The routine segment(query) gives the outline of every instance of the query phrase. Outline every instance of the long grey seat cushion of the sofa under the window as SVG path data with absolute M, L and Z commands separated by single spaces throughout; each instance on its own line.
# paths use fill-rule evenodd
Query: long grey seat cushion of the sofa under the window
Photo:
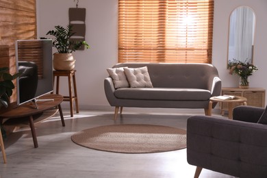
M 196 88 L 120 88 L 114 92 L 118 99 L 207 101 L 209 90 Z

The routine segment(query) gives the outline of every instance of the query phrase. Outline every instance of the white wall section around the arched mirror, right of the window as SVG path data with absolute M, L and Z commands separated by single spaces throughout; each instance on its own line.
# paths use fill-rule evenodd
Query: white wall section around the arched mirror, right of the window
M 265 58 L 267 55 L 266 0 L 215 0 L 212 63 L 218 68 L 220 78 L 223 81 L 223 86 L 238 86 L 238 76 L 229 75 L 229 71 L 226 70 L 226 65 L 229 15 L 240 5 L 247 5 L 251 7 L 256 15 L 254 64 L 259 68 L 259 71 L 253 73 L 250 77 L 250 86 L 267 88 L 267 81 L 265 80 L 267 70 L 264 68 L 267 66 L 267 59 Z

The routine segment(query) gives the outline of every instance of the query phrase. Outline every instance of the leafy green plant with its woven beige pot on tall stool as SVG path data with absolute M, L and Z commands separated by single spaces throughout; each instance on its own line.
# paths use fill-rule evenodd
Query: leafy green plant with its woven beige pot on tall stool
M 55 37 L 52 45 L 58 50 L 58 53 L 53 54 L 53 67 L 55 70 L 72 70 L 75 66 L 73 52 L 80 49 L 83 45 L 86 49 L 90 48 L 86 41 L 78 40 L 75 42 L 75 40 L 71 39 L 75 34 L 72 28 L 72 25 L 67 25 L 66 28 L 57 25 L 55 26 L 55 29 L 47 32 L 47 35 Z

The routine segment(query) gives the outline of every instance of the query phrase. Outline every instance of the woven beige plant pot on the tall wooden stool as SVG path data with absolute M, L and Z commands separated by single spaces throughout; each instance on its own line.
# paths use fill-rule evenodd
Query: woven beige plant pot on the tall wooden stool
M 71 71 L 75 67 L 72 53 L 54 53 L 53 68 L 56 71 Z

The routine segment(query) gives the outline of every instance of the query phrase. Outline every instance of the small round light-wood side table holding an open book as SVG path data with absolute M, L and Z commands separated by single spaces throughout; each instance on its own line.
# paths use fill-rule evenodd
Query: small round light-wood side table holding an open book
M 208 109 L 208 116 L 212 116 L 212 103 L 217 103 L 221 102 L 223 103 L 228 103 L 228 118 L 233 119 L 233 103 L 243 103 L 246 105 L 246 98 L 245 97 L 237 97 L 236 99 L 218 99 L 216 97 L 211 97 L 209 99 L 209 109 Z

